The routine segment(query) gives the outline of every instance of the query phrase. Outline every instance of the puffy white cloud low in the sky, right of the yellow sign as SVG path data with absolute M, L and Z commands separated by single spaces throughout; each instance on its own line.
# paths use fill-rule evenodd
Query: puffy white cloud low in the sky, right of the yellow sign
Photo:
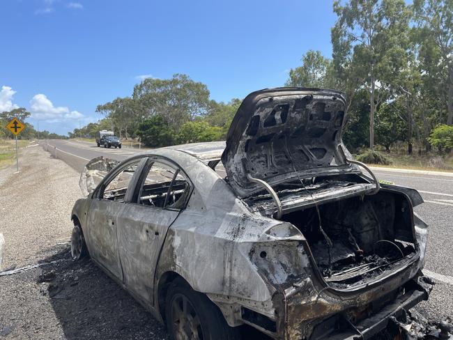
M 33 95 L 30 100 L 30 112 L 33 118 L 49 122 L 80 119 L 84 115 L 79 111 L 70 111 L 68 107 L 56 107 L 43 93 Z

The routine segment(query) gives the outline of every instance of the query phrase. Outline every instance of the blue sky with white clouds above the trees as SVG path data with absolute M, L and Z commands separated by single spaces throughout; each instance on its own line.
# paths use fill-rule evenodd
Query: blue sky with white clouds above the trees
M 66 134 L 140 76 L 174 73 L 244 98 L 282 86 L 308 49 L 331 56 L 335 20 L 328 0 L 0 0 L 0 110 Z

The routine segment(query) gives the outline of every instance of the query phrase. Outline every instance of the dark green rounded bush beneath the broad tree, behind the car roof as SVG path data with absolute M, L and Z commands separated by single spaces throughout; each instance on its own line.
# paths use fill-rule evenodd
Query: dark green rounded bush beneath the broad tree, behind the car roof
M 158 148 L 174 144 L 174 130 L 162 116 L 152 116 L 139 123 L 137 136 L 146 146 Z

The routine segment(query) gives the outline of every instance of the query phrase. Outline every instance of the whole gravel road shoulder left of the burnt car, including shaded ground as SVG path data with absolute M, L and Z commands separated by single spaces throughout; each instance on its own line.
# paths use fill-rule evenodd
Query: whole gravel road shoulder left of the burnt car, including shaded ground
M 0 170 L 3 270 L 41 266 L 0 276 L 0 339 L 167 339 L 92 261 L 70 259 L 79 173 L 40 147 L 24 150 L 20 171 Z

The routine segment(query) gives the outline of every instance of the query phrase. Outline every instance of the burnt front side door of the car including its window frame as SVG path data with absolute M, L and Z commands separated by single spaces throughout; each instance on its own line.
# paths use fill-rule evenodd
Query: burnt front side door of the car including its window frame
M 135 170 L 134 174 L 132 175 L 132 178 L 130 180 L 130 183 L 128 184 L 128 188 L 126 189 L 125 196 L 124 196 L 124 201 L 123 202 L 116 202 L 116 201 L 110 201 L 107 199 L 103 198 L 105 188 L 109 183 L 116 178 L 124 169 L 127 167 L 130 167 L 130 165 L 134 164 L 137 162 L 137 169 Z M 117 238 L 117 231 L 116 228 L 118 227 L 118 216 L 121 215 L 121 211 L 125 207 L 125 204 L 130 201 L 133 192 L 135 192 L 135 187 L 137 180 L 141 178 L 141 171 L 143 171 L 144 166 L 148 163 L 148 156 L 147 155 L 137 155 L 136 157 L 132 157 L 128 160 L 125 160 L 124 162 L 121 162 L 118 164 L 110 173 L 105 176 L 105 178 L 102 178 L 102 181 L 99 183 L 98 187 L 95 188 L 93 193 L 91 194 L 91 203 L 90 203 L 90 208 L 87 212 L 88 216 L 86 217 L 86 224 L 88 226 L 87 231 L 86 231 L 86 245 L 89 249 L 89 253 L 91 254 L 91 258 L 93 261 L 95 261 L 96 264 L 100 265 L 100 267 L 104 270 L 106 270 L 109 275 L 117 279 L 118 281 L 123 281 L 123 268 L 121 266 L 121 259 L 119 256 L 118 252 L 118 238 Z M 109 218 L 109 216 L 105 216 L 107 218 L 107 224 L 110 222 L 112 223 L 112 226 L 109 226 L 111 234 L 111 238 L 109 240 L 104 239 L 104 240 L 99 240 L 99 238 L 96 238 L 95 232 L 96 228 L 100 228 L 99 226 L 92 225 L 91 222 L 95 221 L 95 217 L 93 217 L 93 206 L 95 205 L 101 205 L 101 206 L 106 206 L 107 203 L 112 203 L 112 205 L 117 205 L 118 210 L 112 215 L 112 218 Z M 107 236 L 107 235 L 106 235 Z M 102 256 L 99 254 L 99 249 L 96 247 L 96 242 L 107 242 L 107 245 L 111 247 L 111 252 L 112 256 L 112 263 L 104 263 L 102 261 Z M 109 243 L 110 242 L 110 243 Z

